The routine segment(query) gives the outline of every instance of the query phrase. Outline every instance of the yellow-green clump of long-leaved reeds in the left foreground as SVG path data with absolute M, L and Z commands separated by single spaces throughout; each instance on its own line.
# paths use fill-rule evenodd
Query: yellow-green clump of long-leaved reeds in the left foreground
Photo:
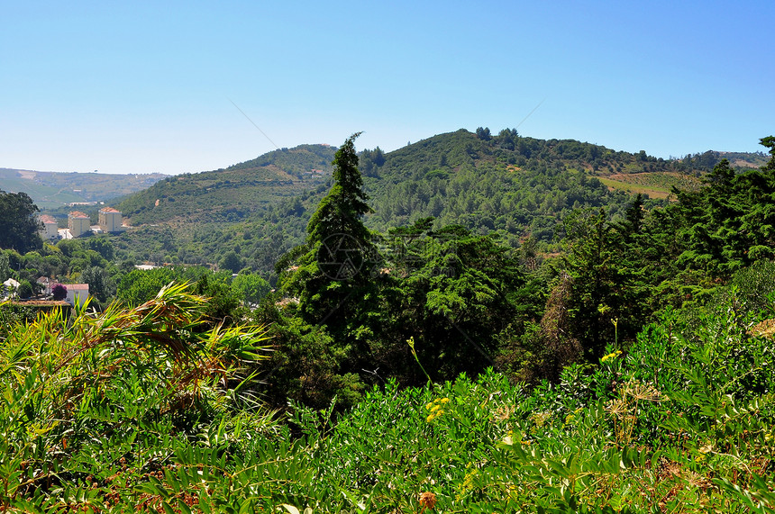
M 201 331 L 204 304 L 174 286 L 129 311 L 3 327 L 4 510 L 68 510 L 96 498 L 78 491 L 95 477 L 113 484 L 101 500 L 137 507 L 134 485 L 169 460 L 160 449 L 217 437 L 212 422 L 260 429 L 266 412 L 244 379 L 262 358 L 261 329 Z

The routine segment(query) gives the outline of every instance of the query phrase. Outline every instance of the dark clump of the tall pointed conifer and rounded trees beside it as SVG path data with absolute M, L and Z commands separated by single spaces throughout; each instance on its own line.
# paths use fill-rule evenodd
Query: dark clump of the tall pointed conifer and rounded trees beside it
M 528 298 L 534 292 L 497 235 L 433 230 L 431 218 L 369 233 L 352 139 L 337 152 L 333 176 L 307 242 L 278 263 L 278 293 L 255 313 L 271 324 L 278 349 L 270 390 L 318 406 L 337 393 L 347 405 L 383 375 L 423 383 L 407 338 L 438 379 L 518 358 L 511 347 L 539 320 L 541 295 Z

